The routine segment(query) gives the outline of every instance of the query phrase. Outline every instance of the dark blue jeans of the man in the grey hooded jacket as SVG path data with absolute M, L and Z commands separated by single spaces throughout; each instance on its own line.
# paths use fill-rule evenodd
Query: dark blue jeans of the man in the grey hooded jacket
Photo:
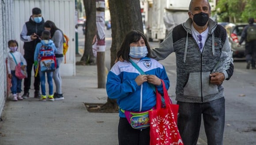
M 196 145 L 199 137 L 201 117 L 207 145 L 223 145 L 225 125 L 225 98 L 219 98 L 206 103 L 186 103 L 177 101 L 180 105 L 178 114 L 178 129 L 184 145 Z

